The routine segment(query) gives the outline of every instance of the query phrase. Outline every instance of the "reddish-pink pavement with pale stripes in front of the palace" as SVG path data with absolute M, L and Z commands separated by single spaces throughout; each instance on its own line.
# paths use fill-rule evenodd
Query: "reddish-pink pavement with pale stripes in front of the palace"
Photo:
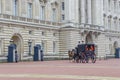
M 120 59 L 0 63 L 0 80 L 120 80 Z

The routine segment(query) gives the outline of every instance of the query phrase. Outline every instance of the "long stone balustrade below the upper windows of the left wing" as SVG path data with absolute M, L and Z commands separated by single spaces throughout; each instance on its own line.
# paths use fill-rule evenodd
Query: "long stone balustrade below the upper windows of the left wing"
M 0 14 L 0 18 L 7 19 L 10 21 L 18 21 L 18 22 L 22 21 L 26 23 L 44 24 L 44 25 L 58 26 L 58 27 L 62 25 L 62 23 L 60 22 L 45 21 L 45 20 L 32 19 L 32 18 L 26 18 L 26 17 L 20 17 L 20 16 L 13 16 L 8 14 Z

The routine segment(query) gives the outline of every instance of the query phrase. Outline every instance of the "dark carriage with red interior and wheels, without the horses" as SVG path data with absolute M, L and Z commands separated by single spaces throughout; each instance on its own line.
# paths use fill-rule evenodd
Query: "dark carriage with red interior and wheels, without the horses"
M 78 54 L 76 55 L 77 62 L 79 59 L 81 59 L 82 62 L 88 63 L 89 59 L 91 59 L 92 62 L 95 63 L 96 61 L 95 44 L 80 44 L 76 47 L 76 51 Z

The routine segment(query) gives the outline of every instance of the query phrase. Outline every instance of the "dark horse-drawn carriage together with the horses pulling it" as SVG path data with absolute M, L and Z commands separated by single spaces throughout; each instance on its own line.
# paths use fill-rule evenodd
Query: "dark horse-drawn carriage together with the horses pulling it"
M 76 62 L 88 63 L 89 60 L 91 59 L 92 63 L 95 63 L 96 62 L 95 45 L 80 44 L 71 51 L 71 57 Z

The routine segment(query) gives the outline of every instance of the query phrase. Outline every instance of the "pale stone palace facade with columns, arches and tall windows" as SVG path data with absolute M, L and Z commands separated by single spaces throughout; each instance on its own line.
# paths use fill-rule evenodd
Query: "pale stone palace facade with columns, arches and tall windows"
M 0 55 L 10 41 L 19 59 L 41 44 L 45 55 L 66 54 L 78 41 L 96 44 L 98 56 L 120 47 L 120 0 L 0 0 Z

